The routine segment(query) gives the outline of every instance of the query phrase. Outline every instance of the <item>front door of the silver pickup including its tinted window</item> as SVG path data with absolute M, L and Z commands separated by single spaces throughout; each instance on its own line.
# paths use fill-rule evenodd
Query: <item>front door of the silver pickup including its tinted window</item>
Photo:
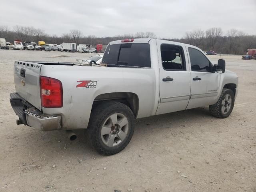
M 220 91 L 220 75 L 212 73 L 210 60 L 197 48 L 187 47 L 191 70 L 191 96 L 187 109 L 213 104 Z

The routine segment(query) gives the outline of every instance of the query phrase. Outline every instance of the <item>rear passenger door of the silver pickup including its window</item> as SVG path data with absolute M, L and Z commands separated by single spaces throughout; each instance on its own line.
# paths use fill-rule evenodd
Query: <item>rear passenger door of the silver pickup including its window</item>
M 190 71 L 183 44 L 158 41 L 160 98 L 156 114 L 185 110 L 190 98 Z

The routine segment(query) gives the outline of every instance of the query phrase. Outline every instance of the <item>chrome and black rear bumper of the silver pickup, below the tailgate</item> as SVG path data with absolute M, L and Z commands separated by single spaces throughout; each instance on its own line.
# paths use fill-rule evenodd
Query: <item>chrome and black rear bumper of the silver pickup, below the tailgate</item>
M 42 131 L 52 131 L 61 128 L 61 116 L 43 114 L 17 93 L 10 94 L 10 103 L 15 114 L 19 117 L 19 122 L 22 122 L 24 125 Z

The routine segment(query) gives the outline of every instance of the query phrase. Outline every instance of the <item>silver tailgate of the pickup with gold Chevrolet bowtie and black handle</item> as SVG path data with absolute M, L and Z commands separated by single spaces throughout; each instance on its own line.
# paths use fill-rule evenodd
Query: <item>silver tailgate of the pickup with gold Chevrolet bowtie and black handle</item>
M 14 62 L 16 92 L 34 107 L 41 110 L 40 69 L 42 64 L 26 61 Z

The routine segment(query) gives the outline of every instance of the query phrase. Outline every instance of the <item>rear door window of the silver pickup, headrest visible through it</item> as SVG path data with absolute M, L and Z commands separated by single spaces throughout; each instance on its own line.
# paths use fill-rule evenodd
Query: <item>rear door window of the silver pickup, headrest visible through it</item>
M 167 71 L 186 71 L 183 49 L 180 46 L 161 45 L 162 66 Z

